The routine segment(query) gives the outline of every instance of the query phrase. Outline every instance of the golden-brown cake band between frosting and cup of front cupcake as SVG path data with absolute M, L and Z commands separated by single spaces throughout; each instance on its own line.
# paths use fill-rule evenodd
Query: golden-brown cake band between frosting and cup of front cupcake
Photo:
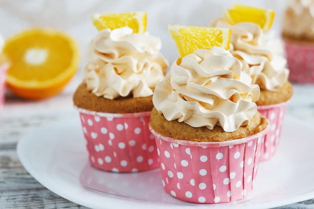
M 249 125 L 241 126 L 233 132 L 225 132 L 222 127 L 216 125 L 213 130 L 207 127 L 192 127 L 178 120 L 168 121 L 163 114 L 160 114 L 155 108 L 150 114 L 150 127 L 157 133 L 174 139 L 188 141 L 227 141 L 244 138 L 257 134 L 267 127 L 267 119 L 259 112 L 256 112 Z

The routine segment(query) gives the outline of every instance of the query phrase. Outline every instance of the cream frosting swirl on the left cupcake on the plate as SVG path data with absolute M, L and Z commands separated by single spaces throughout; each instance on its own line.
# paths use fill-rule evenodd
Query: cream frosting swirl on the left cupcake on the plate
M 83 81 L 89 91 L 107 99 L 130 93 L 150 96 L 169 67 L 159 53 L 161 45 L 159 38 L 135 34 L 128 27 L 102 30 L 87 47 Z

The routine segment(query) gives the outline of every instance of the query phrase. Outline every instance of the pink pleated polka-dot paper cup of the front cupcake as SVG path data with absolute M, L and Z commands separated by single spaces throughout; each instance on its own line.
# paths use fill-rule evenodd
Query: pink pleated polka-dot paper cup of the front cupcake
M 151 132 L 163 185 L 172 196 L 196 203 L 222 203 L 251 193 L 267 129 L 224 142 L 178 140 Z

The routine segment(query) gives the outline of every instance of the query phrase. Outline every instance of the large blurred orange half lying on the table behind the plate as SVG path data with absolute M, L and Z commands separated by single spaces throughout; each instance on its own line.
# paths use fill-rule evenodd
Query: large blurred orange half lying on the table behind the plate
M 43 99 L 61 92 L 79 64 L 74 39 L 54 29 L 23 31 L 6 40 L 3 52 L 11 62 L 8 88 L 27 99 Z

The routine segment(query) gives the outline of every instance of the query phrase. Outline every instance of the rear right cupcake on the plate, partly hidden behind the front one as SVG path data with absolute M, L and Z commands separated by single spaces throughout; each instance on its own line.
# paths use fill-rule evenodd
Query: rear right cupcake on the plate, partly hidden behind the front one
M 252 10 L 267 11 L 258 8 Z M 228 14 L 227 11 L 224 14 Z M 236 24 L 231 24 L 226 16 L 214 20 L 210 26 L 231 28 L 230 53 L 243 64 L 242 70 L 251 76 L 252 84 L 260 88 L 257 110 L 268 118 L 271 127 L 262 147 L 261 160 L 266 160 L 276 153 L 286 106 L 293 94 L 283 47 L 281 41 L 274 38 L 272 30 L 262 29 L 260 25 L 250 22 L 254 20 L 254 14 L 247 15 L 246 21 Z

